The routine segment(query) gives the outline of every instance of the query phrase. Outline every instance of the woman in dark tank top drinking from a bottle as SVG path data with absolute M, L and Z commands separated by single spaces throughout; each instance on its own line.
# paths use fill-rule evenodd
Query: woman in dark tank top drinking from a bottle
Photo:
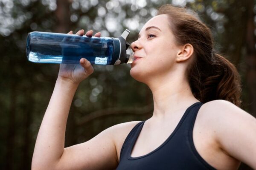
M 239 75 L 212 46 L 209 28 L 191 11 L 161 6 L 131 44 L 130 74 L 151 89 L 152 117 L 109 127 L 67 148 L 72 98 L 93 67 L 86 59 L 76 66 L 60 65 L 32 169 L 233 170 L 240 161 L 256 169 L 256 119 L 238 107 Z

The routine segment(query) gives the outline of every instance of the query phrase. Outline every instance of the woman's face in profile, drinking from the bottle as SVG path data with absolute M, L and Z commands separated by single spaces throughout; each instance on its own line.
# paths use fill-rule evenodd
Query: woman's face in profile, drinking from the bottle
M 175 69 L 178 47 L 166 14 L 151 18 L 141 29 L 138 39 L 131 43 L 134 62 L 131 76 L 140 82 L 164 76 Z

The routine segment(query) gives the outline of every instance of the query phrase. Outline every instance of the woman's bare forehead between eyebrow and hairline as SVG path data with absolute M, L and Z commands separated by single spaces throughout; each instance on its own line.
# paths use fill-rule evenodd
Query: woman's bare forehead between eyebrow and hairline
M 140 32 L 145 31 L 146 28 L 156 26 L 160 28 L 162 31 L 167 31 L 169 29 L 169 19 L 166 14 L 157 15 L 150 20 L 143 26 Z

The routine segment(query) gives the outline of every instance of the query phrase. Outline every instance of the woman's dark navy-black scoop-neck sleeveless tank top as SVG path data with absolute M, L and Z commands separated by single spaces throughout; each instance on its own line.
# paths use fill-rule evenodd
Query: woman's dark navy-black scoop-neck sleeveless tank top
M 145 121 L 138 123 L 125 139 L 116 170 L 215 170 L 199 155 L 192 139 L 195 118 L 202 105 L 196 102 L 187 108 L 172 134 L 155 150 L 131 157 Z

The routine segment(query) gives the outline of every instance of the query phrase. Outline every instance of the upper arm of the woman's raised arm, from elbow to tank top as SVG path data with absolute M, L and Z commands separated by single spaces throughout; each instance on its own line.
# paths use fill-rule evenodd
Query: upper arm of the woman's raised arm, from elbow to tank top
M 113 170 L 118 165 L 116 136 L 129 133 L 135 122 L 126 122 L 103 130 L 87 142 L 64 148 L 57 168 L 60 170 Z M 121 134 L 122 133 L 122 134 Z M 120 135 L 118 135 L 120 134 Z

